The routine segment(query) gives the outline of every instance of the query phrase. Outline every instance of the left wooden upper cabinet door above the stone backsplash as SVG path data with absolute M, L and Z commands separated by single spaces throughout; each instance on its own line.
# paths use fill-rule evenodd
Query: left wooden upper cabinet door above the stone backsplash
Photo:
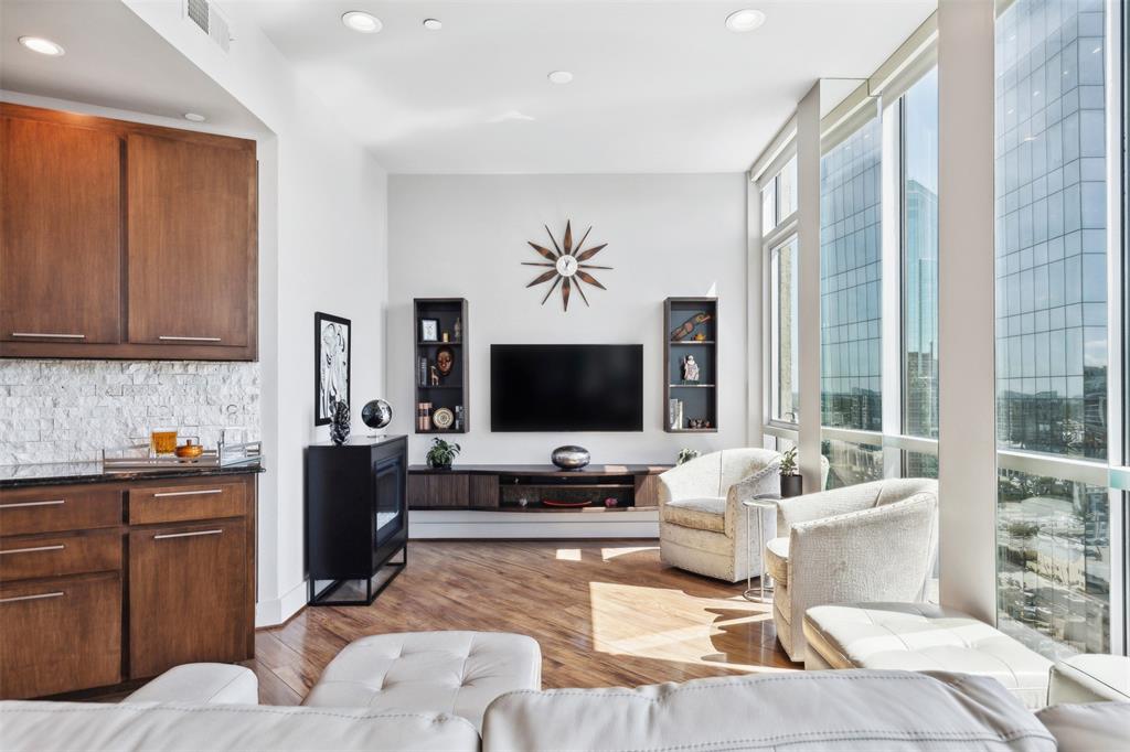
M 0 117 L 0 341 L 121 335 L 121 138 Z

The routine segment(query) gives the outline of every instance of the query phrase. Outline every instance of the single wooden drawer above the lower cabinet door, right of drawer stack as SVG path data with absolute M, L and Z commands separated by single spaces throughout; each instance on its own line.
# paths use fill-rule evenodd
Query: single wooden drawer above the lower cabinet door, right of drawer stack
M 130 489 L 130 524 L 242 517 L 247 514 L 243 482 L 177 483 Z

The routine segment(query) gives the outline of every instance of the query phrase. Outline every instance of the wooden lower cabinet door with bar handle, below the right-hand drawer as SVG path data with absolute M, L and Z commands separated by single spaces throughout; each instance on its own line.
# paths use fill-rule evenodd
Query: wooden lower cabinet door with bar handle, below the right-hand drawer
M 249 658 L 246 525 L 240 519 L 130 532 L 130 676 Z

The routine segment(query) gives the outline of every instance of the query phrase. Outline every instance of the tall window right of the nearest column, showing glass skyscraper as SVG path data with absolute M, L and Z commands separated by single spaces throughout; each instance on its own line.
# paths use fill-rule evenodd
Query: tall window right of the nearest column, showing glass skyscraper
M 1052 656 L 1121 652 L 1107 8 L 1016 0 L 996 32 L 998 618 Z

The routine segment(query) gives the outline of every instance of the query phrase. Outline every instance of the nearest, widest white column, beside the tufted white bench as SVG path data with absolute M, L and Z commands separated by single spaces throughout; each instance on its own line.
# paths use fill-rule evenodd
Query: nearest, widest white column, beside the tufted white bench
M 993 3 L 938 3 L 941 603 L 997 622 Z

